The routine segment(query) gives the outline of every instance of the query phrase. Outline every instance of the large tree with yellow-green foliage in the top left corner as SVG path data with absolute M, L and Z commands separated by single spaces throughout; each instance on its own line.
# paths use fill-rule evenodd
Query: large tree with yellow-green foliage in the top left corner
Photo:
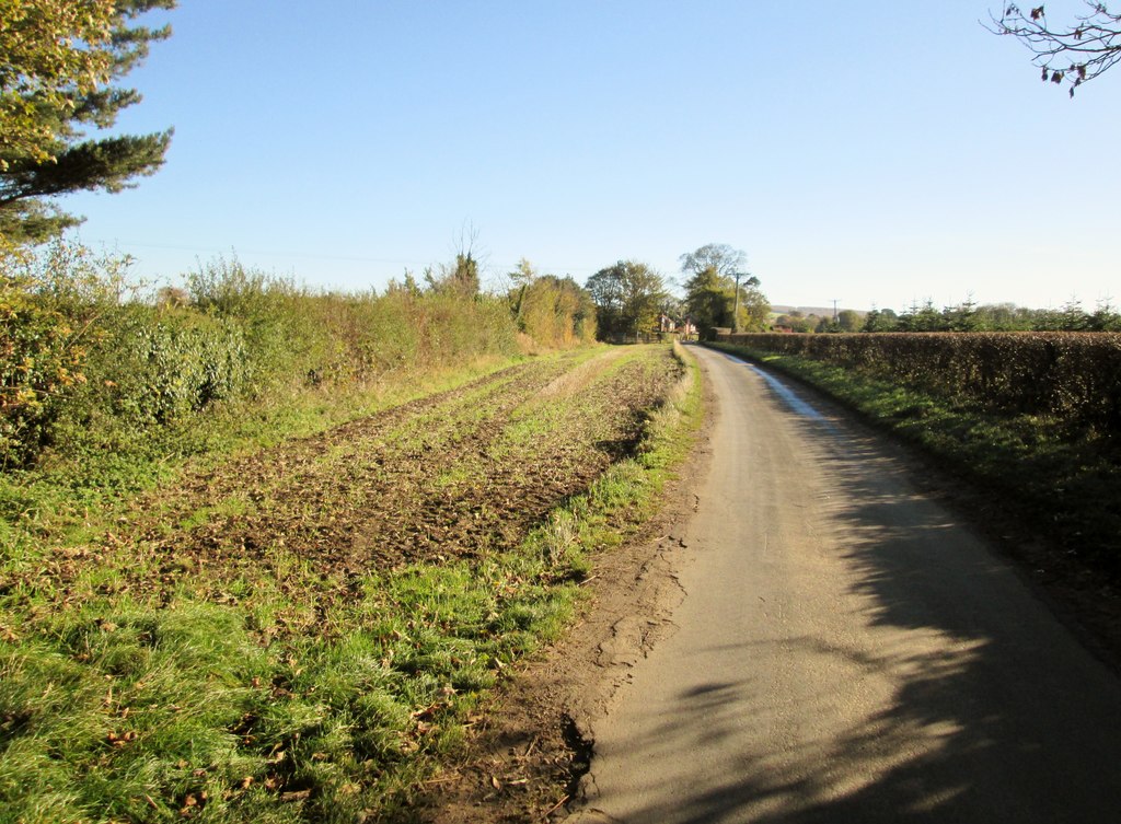
M 83 140 L 140 101 L 114 83 L 170 29 L 133 25 L 176 0 L 0 2 L 0 240 L 8 247 L 59 234 L 81 219 L 50 198 L 119 192 L 164 163 L 172 130 Z

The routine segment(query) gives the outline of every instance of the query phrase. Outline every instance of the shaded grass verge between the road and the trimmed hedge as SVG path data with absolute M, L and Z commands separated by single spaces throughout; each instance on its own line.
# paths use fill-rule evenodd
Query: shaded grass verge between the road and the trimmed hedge
M 1036 415 L 979 411 L 915 388 L 795 355 L 715 345 L 793 376 L 917 445 L 1103 582 L 1121 582 L 1121 445 Z

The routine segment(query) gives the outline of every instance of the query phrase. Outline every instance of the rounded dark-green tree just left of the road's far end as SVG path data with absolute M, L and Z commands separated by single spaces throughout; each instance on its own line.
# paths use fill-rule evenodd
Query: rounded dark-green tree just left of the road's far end
M 620 260 L 587 279 L 599 335 L 611 339 L 652 332 L 666 297 L 661 275 L 634 260 Z

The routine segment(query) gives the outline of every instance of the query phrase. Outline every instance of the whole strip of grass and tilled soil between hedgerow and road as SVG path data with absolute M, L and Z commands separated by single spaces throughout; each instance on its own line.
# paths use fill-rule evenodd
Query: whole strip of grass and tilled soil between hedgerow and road
M 8 479 L 0 822 L 406 817 L 652 506 L 693 373 L 581 350 L 140 494 Z

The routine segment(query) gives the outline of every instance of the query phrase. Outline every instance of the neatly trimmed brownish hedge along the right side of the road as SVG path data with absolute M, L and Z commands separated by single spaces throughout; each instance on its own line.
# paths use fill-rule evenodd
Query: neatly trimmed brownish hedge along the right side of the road
M 1115 332 L 733 334 L 722 342 L 794 354 L 1001 415 L 1048 415 L 1121 432 Z

